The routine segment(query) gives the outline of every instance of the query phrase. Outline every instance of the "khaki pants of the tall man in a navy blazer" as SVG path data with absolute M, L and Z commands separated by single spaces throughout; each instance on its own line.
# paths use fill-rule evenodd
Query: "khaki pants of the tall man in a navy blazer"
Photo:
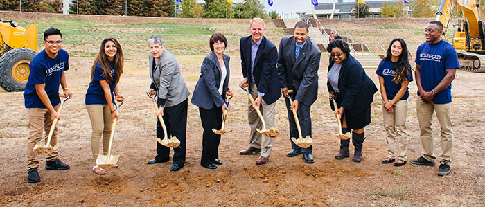
M 249 93 L 251 96 L 256 99 L 258 97 L 258 91 L 256 88 L 256 84 L 251 82 L 251 87 Z M 261 106 L 259 110 L 261 111 L 261 115 L 265 119 L 266 129 L 270 129 L 270 127 L 274 127 L 274 109 L 276 108 L 276 102 L 272 103 L 271 105 L 267 105 L 264 100 L 261 100 Z M 252 107 L 251 101 L 248 100 L 247 105 L 247 119 L 249 121 L 249 127 L 251 127 L 251 135 L 249 146 L 260 148 L 261 149 L 261 156 L 265 158 L 269 158 L 271 154 L 271 150 L 273 147 L 274 138 L 269 136 L 262 136 L 259 132 L 256 132 L 256 129 L 263 129 L 263 123 L 259 118 L 256 109 Z

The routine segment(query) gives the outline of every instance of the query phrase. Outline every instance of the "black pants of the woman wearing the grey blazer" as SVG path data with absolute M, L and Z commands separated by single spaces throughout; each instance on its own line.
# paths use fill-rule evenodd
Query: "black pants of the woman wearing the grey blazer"
M 185 163 L 185 138 L 187 132 L 187 101 L 179 103 L 172 107 L 164 108 L 164 123 L 167 129 L 167 136 L 171 138 L 175 136 L 179 139 L 180 145 L 173 149 L 173 163 L 177 163 L 180 167 Z M 157 118 L 157 137 L 164 139 L 164 129 Z M 170 147 L 165 147 L 157 142 L 157 160 L 166 160 L 170 154 Z

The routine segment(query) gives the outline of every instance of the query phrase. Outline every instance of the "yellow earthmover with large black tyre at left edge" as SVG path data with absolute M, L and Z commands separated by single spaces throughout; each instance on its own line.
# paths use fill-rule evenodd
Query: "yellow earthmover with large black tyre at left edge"
M 24 91 L 37 55 L 37 24 L 27 28 L 12 20 L 0 19 L 0 86 L 8 91 Z

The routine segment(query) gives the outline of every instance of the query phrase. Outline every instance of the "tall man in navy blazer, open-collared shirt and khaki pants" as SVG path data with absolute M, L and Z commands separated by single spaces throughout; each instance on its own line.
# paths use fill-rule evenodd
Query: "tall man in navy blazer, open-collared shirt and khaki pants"
M 276 70 L 278 51 L 276 46 L 269 39 L 263 36 L 265 33 L 265 22 L 261 18 L 251 19 L 249 22 L 251 36 L 240 39 L 241 66 L 243 68 L 244 80 L 241 85 L 248 83 L 249 92 L 255 99 L 254 105 L 249 102 L 248 120 L 251 127 L 249 147 L 241 150 L 239 154 L 247 155 L 261 152 L 256 161 L 257 165 L 264 165 L 270 158 L 273 138 L 261 136 L 256 128 L 261 129 L 263 123 L 258 118 L 254 107 L 258 107 L 263 114 L 266 128 L 274 127 L 274 108 L 276 100 L 281 96 Z

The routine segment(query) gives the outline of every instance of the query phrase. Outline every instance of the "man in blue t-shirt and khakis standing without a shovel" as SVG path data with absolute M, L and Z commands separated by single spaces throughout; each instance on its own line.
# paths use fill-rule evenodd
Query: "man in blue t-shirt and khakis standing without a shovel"
M 459 69 L 457 51 L 451 44 L 441 40 L 443 24 L 430 21 L 425 28 L 426 42 L 416 53 L 416 112 L 421 129 L 422 156 L 412 160 L 414 165 L 434 166 L 433 130 L 431 121 L 434 111 L 441 127 L 441 165 L 438 175 L 450 174 L 453 128 L 451 123 L 451 82 Z

